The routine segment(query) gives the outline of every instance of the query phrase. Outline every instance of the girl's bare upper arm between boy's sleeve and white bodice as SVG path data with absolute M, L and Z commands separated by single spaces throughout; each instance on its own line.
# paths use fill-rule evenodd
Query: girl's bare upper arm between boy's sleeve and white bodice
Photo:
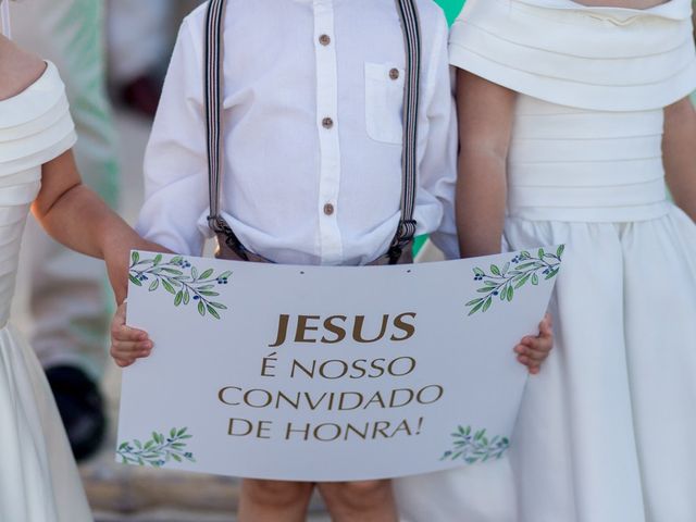
M 457 229 L 464 258 L 500 252 L 506 169 L 517 95 L 465 71 L 457 73 L 459 175 Z

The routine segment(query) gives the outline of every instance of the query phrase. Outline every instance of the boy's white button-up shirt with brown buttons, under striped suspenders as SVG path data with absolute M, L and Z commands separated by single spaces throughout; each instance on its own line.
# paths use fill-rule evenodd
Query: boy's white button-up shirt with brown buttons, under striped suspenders
M 448 29 L 419 0 L 418 234 L 457 256 L 457 124 Z M 394 0 L 229 0 L 224 27 L 222 214 L 288 264 L 363 264 L 400 216 L 403 35 Z M 206 7 L 183 23 L 145 160 L 138 231 L 200 254 L 208 228 Z

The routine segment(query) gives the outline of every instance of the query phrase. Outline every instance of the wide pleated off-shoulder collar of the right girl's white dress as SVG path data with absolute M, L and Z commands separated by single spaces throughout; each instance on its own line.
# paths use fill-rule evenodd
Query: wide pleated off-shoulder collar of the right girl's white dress
M 452 25 L 450 62 L 559 105 L 662 109 L 696 85 L 691 13 L 691 0 L 647 10 L 468 0 Z

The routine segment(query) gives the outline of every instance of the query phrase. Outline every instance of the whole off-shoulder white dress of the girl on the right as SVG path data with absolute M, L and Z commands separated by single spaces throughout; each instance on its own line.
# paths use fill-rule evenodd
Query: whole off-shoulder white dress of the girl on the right
M 520 92 L 505 243 L 567 249 L 508 458 L 398 481 L 403 519 L 696 521 L 696 225 L 661 159 L 696 88 L 691 0 L 469 0 L 450 61 Z

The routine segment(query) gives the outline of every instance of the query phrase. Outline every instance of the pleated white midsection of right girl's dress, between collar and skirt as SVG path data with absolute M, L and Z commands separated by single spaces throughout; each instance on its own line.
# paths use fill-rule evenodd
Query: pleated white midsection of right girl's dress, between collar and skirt
M 661 109 L 594 111 L 520 95 L 508 216 L 624 223 L 666 215 L 663 122 Z

